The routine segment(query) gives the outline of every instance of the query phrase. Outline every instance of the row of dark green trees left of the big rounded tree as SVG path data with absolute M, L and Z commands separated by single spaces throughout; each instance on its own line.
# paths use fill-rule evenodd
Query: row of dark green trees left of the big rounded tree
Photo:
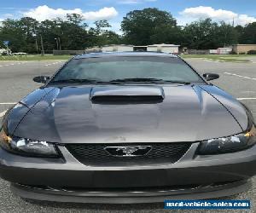
M 41 37 L 44 50 L 52 52 L 61 43 L 61 49 L 86 49 L 92 46 L 119 43 L 119 35 L 109 31 L 107 20 L 97 20 L 95 27 L 84 22 L 80 14 L 67 14 L 67 19 L 39 22 L 30 17 L 3 20 L 0 25 L 0 45 L 9 41 L 13 52 L 39 53 Z

